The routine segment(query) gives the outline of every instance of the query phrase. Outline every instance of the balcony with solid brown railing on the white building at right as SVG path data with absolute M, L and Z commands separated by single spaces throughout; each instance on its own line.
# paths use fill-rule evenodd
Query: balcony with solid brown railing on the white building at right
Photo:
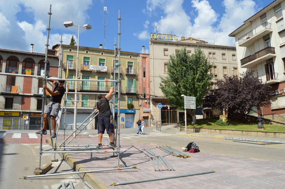
M 274 47 L 266 47 L 252 55 L 249 55 L 243 59 L 241 59 L 241 67 L 242 68 L 251 68 L 262 61 L 266 61 L 272 57 L 275 57 L 275 48 Z

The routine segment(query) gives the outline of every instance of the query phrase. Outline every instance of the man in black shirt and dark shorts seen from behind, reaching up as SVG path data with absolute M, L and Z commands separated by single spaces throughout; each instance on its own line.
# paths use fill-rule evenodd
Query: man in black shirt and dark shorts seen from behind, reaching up
M 97 109 L 99 110 L 99 115 L 98 115 L 99 143 L 98 143 L 97 148 L 103 147 L 102 137 L 103 137 L 103 133 L 105 132 L 105 129 L 110 138 L 110 143 L 108 146 L 115 148 L 115 144 L 113 142 L 114 125 L 111 124 L 111 108 L 109 105 L 109 98 L 111 97 L 113 90 L 114 90 L 114 87 L 111 87 L 110 92 L 106 96 L 104 96 L 103 94 L 98 94 L 98 98 L 100 99 L 100 101 L 97 102 Z

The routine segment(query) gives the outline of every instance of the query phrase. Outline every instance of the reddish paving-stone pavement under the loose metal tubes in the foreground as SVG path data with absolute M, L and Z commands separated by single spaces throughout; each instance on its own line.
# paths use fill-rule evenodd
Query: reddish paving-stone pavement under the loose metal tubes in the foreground
M 78 137 L 70 144 L 97 144 L 97 137 Z M 62 137 L 58 136 L 58 144 Z M 104 140 L 103 140 L 104 141 Z M 285 163 L 248 157 L 237 157 L 216 153 L 190 153 L 190 158 L 171 156 L 157 149 L 156 145 L 145 144 L 121 139 L 121 149 L 127 149 L 121 154 L 120 164 L 137 166 L 137 169 L 92 173 L 110 188 L 285 188 Z M 168 159 L 176 171 L 154 171 L 151 162 L 140 152 L 148 148 L 158 155 Z M 177 149 L 182 151 L 181 149 Z M 184 152 L 185 153 L 185 152 Z M 117 157 L 110 153 L 70 153 L 68 157 L 75 158 L 76 164 L 82 164 L 88 170 L 110 169 L 117 166 Z M 215 170 L 216 173 L 188 176 L 137 184 L 110 186 L 113 182 L 127 182 L 148 178 L 200 173 Z

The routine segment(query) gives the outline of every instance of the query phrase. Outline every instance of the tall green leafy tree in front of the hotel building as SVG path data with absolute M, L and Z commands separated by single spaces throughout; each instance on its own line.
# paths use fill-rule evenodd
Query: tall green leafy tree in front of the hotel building
M 170 105 L 184 110 L 184 97 L 196 97 L 196 107 L 202 105 L 202 99 L 211 89 L 211 69 L 213 65 L 209 62 L 205 53 L 196 48 L 190 56 L 186 48 L 176 50 L 176 54 L 170 55 L 167 63 L 168 76 L 160 77 L 160 89 L 168 98 Z M 192 115 L 196 123 L 195 109 L 186 109 Z

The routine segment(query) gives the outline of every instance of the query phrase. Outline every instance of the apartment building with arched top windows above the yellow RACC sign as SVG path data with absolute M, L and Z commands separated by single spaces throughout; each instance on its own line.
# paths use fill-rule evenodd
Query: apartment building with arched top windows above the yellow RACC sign
M 48 53 L 46 74 L 57 77 L 58 56 Z M 44 60 L 45 54 L 32 47 L 31 52 L 0 49 L 0 129 L 40 128 Z

